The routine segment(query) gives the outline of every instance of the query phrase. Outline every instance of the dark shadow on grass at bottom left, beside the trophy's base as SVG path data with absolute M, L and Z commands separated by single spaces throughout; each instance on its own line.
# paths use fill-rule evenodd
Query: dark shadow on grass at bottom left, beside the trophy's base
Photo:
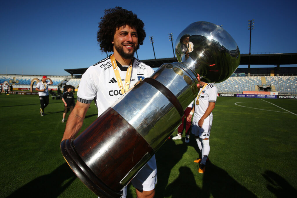
M 20 187 L 8 197 L 58 197 L 75 179 L 75 174 L 64 163 L 50 174 L 42 175 Z

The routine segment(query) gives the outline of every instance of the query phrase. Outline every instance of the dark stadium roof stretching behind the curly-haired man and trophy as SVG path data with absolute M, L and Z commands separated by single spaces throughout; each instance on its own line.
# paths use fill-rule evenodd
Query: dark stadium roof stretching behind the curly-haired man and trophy
M 277 53 L 277 54 L 241 54 L 240 65 L 295 65 L 297 64 L 297 53 Z M 164 63 L 177 62 L 176 58 L 158 58 L 142 60 L 145 64 L 156 68 Z M 88 68 L 64 69 L 71 75 L 82 75 Z

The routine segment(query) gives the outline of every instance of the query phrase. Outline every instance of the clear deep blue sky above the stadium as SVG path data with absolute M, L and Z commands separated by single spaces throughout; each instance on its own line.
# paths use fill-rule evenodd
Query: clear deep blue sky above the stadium
M 174 45 L 178 34 L 196 21 L 222 25 L 243 54 L 249 52 L 248 20 L 255 19 L 251 53 L 296 53 L 296 5 L 288 0 L 2 1 L 0 74 L 69 75 L 64 69 L 100 61 L 106 53 L 97 44 L 98 22 L 105 9 L 116 6 L 132 10 L 145 24 L 140 60 L 154 58 L 149 36 L 156 58 L 173 57 L 168 33 L 173 33 Z

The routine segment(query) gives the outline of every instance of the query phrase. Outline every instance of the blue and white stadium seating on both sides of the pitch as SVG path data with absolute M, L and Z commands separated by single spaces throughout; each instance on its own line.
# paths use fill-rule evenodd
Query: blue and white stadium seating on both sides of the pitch
M 48 76 L 53 81 L 49 88 L 67 85 L 78 88 L 80 78 L 70 76 Z M 29 88 L 31 80 L 41 79 L 42 76 L 0 75 L 0 83 L 4 81 L 14 83 L 14 88 Z M 68 80 L 68 81 L 67 81 Z M 216 83 L 219 93 L 242 93 L 243 91 L 262 91 L 259 85 L 267 85 L 268 91 L 277 91 L 279 94 L 297 94 L 297 76 L 243 76 L 243 73 L 233 74 L 222 83 Z M 35 88 L 36 85 L 33 85 Z

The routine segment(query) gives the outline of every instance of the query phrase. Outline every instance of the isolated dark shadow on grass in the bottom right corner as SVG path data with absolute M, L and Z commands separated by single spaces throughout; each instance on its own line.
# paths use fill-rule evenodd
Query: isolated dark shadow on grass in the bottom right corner
M 266 170 L 262 176 L 270 183 L 267 184 L 267 189 L 276 197 L 296 197 L 297 190 L 280 175 Z

